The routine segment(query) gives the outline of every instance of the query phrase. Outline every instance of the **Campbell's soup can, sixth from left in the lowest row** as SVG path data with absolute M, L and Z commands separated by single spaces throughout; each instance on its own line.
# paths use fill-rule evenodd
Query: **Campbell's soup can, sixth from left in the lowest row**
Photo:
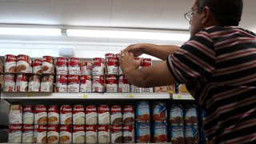
M 86 129 L 84 125 L 73 125 L 73 143 L 86 142 Z

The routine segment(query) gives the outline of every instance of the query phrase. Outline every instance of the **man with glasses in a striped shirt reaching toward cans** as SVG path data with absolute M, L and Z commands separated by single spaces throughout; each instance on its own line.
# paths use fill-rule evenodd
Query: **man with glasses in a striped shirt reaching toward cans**
M 185 83 L 206 110 L 210 142 L 256 143 L 256 36 L 238 27 L 242 0 L 196 0 L 185 16 L 189 41 L 128 46 L 119 57 L 123 73 L 141 87 Z M 138 69 L 141 54 L 164 61 Z

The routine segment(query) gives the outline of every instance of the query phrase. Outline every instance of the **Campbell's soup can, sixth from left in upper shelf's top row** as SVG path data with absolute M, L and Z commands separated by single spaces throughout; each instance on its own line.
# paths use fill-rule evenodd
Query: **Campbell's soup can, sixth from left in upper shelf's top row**
M 68 74 L 69 75 L 80 75 L 81 62 L 80 58 L 69 58 L 68 60 Z

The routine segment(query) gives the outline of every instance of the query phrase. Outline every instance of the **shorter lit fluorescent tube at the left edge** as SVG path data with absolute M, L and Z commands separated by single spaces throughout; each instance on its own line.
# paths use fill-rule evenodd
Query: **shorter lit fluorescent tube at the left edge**
M 62 35 L 61 29 L 46 28 L 10 28 L 0 27 L 0 34 L 12 35 Z

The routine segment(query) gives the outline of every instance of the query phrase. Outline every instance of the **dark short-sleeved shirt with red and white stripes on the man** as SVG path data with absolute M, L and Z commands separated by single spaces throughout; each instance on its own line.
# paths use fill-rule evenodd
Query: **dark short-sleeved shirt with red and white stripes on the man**
M 256 143 L 256 35 L 238 26 L 201 30 L 167 66 L 206 110 L 214 143 Z

